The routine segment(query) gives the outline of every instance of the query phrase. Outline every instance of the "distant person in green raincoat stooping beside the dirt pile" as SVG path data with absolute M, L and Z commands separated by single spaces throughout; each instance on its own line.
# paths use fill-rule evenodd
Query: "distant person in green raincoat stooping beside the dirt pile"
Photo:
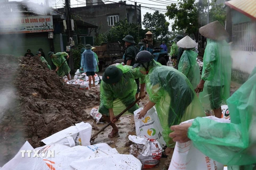
M 54 54 L 53 52 L 49 52 L 48 56 L 52 58 L 52 62 L 54 65 L 56 65 L 56 70 L 55 72 L 57 72 L 57 74 L 59 75 L 59 77 L 64 77 L 65 75 L 67 75 L 68 80 L 70 80 L 70 68 L 68 66 L 68 63 L 65 59 L 65 56 L 67 56 L 67 59 L 69 58 L 69 55 L 66 52 L 60 52 L 60 53 L 56 53 Z M 62 66 L 61 64 L 64 63 Z

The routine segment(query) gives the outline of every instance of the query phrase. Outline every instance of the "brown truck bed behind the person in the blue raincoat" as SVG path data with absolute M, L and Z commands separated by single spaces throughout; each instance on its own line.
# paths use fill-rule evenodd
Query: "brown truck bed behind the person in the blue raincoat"
M 109 66 L 115 60 L 123 57 L 124 50 L 119 41 L 102 43 L 101 46 L 94 46 L 94 53 L 98 55 L 99 71 Z

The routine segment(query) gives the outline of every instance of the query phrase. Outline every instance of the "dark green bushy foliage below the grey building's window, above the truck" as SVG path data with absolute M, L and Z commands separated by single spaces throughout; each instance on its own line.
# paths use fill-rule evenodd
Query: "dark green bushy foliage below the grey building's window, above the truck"
M 127 22 L 127 19 L 121 20 L 115 23 L 115 26 L 112 27 L 108 34 L 107 40 L 108 41 L 119 41 L 122 45 L 124 45 L 123 38 L 127 35 L 131 35 L 134 38 L 134 41 L 138 43 L 141 39 L 138 34 L 141 32 L 140 25 L 135 23 Z

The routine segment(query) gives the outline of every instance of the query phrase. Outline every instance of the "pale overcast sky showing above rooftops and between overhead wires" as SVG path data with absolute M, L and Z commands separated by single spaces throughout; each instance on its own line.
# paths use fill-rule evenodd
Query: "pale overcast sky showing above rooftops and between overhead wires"
M 9 1 L 15 1 L 15 0 L 9 0 Z M 22 1 L 22 0 L 16 0 L 16 1 Z M 93 0 L 93 2 L 94 1 L 96 0 Z M 103 2 L 106 4 L 114 3 L 118 1 L 119 0 L 103 0 Z M 142 15 L 141 21 L 143 21 L 143 15 L 145 15 L 147 12 L 153 14 L 156 10 L 158 10 L 159 12 L 164 14 L 166 12 L 166 6 L 171 5 L 171 3 L 178 3 L 177 1 L 178 0 L 138 0 L 138 1 L 126 0 L 126 4 L 134 5 L 134 2 L 137 2 L 137 5 L 141 4 L 141 15 Z M 45 4 L 45 0 L 29 0 L 29 2 Z M 71 7 L 86 6 L 85 3 L 86 3 L 86 0 L 70 0 Z M 65 0 L 49 0 L 49 5 L 52 6 L 53 8 L 61 8 L 64 6 L 64 4 L 65 4 Z M 166 17 L 166 21 L 170 22 L 169 30 L 171 31 L 171 23 L 173 21 L 169 20 L 169 18 L 167 17 Z

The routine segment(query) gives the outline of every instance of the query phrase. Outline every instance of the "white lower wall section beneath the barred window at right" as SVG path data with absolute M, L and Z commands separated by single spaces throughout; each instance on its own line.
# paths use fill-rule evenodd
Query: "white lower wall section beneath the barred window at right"
M 256 52 L 231 50 L 232 80 L 245 82 L 256 65 Z

